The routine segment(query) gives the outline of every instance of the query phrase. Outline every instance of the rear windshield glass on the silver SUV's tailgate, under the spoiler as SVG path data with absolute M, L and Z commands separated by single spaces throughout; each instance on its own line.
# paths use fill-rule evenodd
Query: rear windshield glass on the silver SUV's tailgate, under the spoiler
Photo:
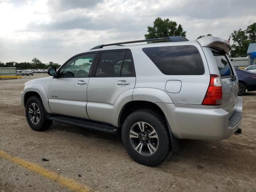
M 232 70 L 230 68 L 230 64 L 228 63 L 226 56 L 223 54 L 218 54 L 216 52 L 212 52 L 212 53 L 214 55 L 218 69 L 220 71 L 220 76 L 221 77 L 231 76 Z

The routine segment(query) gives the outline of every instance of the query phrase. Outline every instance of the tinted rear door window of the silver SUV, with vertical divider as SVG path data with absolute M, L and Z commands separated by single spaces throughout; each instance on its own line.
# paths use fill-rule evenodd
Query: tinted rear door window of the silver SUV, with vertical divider
M 129 51 L 102 52 L 96 77 L 135 76 L 132 54 Z

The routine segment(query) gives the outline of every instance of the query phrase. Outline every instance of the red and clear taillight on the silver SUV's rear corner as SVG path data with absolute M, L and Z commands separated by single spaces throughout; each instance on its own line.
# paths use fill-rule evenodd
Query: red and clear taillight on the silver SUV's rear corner
M 210 84 L 202 105 L 221 105 L 222 82 L 218 75 L 210 75 Z

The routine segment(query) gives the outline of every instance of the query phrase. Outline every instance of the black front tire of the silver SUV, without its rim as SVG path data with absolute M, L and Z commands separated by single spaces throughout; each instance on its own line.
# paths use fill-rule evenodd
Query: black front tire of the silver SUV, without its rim
M 32 103 L 35 103 L 40 110 L 40 118 L 38 124 L 34 124 L 30 120 L 29 108 Z M 38 96 L 31 96 L 26 103 L 26 118 L 28 125 L 35 131 L 43 131 L 48 129 L 52 125 L 52 120 L 46 119 L 46 112 L 42 100 Z

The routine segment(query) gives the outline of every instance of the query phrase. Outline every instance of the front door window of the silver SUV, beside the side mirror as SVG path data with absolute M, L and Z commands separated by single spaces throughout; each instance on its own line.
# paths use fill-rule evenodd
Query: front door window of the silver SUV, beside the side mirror
M 88 77 L 95 56 L 96 53 L 91 53 L 73 58 L 60 69 L 59 76 L 76 78 Z

